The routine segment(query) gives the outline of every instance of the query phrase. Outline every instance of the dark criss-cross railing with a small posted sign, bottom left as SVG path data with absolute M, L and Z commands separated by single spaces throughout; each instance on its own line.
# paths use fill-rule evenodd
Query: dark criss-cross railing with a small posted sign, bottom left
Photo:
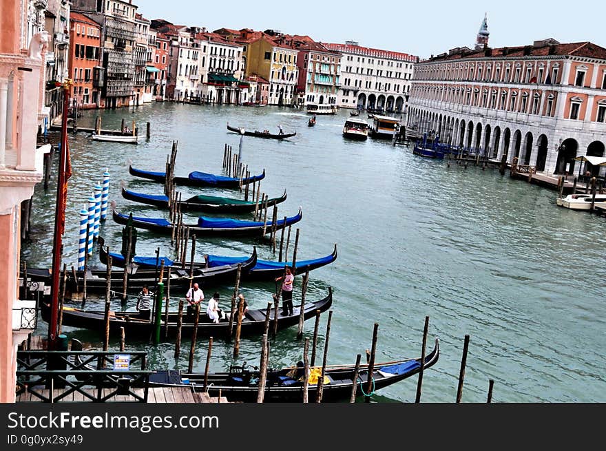
M 127 362 L 125 369 L 116 366 L 116 355 Z M 17 352 L 17 396 L 28 392 L 43 402 L 55 403 L 77 392 L 92 402 L 116 396 L 147 402 L 152 371 L 147 370 L 146 362 L 145 351 L 21 350 Z M 131 369 L 134 366 L 139 368 Z M 85 390 L 90 387 L 96 390 Z M 65 390 L 55 392 L 54 388 Z M 135 388 L 143 388 L 143 396 Z

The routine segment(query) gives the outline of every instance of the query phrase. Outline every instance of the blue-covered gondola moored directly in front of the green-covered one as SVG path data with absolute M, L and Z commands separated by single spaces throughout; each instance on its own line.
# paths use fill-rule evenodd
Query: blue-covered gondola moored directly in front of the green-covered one
M 127 225 L 129 220 L 128 215 L 123 215 L 118 211 L 114 210 L 112 213 L 114 221 L 118 224 Z M 280 219 L 275 222 L 275 230 L 282 230 L 284 227 L 288 227 L 291 224 L 299 222 L 303 217 L 302 210 L 299 209 L 299 213 L 290 218 Z M 147 229 L 157 233 L 164 233 L 165 235 L 171 235 L 173 227 L 176 224 L 172 224 L 168 220 L 163 218 L 141 218 L 133 216 L 132 224 L 138 229 Z M 209 218 L 207 216 L 198 217 L 197 224 L 183 224 L 184 227 L 189 227 L 189 233 L 195 233 L 196 236 L 256 236 L 262 237 L 263 235 L 270 233 L 272 230 L 273 221 L 244 221 L 239 219 L 231 218 Z

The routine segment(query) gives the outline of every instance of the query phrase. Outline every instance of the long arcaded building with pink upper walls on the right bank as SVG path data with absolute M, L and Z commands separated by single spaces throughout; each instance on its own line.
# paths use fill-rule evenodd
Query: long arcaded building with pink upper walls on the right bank
M 454 48 L 417 64 L 410 129 L 435 131 L 491 158 L 518 158 L 545 174 L 573 174 L 587 169 L 576 156 L 604 156 L 605 48 L 554 39 L 483 47 Z

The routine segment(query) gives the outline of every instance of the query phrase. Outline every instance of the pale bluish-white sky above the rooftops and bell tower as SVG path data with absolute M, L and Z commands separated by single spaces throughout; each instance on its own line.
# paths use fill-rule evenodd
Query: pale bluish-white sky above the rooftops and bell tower
M 280 30 L 315 41 L 404 52 L 421 59 L 453 47 L 472 48 L 484 12 L 490 47 L 530 45 L 552 37 L 561 43 L 592 41 L 606 47 L 606 2 L 576 0 L 490 2 L 406 0 L 133 0 L 146 19 L 176 25 Z

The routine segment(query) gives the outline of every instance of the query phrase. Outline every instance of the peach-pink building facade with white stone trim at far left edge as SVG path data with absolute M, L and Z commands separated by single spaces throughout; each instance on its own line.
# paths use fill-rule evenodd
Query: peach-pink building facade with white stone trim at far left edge
M 36 149 L 36 135 L 47 117 L 43 92 L 50 36 L 28 26 L 28 2 L 6 1 L 1 11 L 0 403 L 8 403 L 15 399 L 17 346 L 36 328 L 36 302 L 19 299 L 19 226 L 21 202 L 32 197 L 43 173 L 44 149 Z

